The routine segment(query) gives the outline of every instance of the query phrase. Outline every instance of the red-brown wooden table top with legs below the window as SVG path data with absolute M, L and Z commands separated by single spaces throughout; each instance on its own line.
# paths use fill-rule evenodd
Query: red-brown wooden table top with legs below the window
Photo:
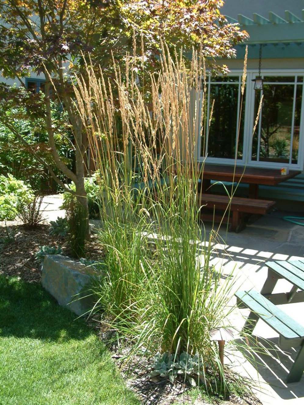
M 211 180 L 240 181 L 249 184 L 249 198 L 258 198 L 259 185 L 277 185 L 282 181 L 291 179 L 301 173 L 299 170 L 290 170 L 287 175 L 281 175 L 280 169 L 265 169 L 258 167 L 243 167 L 203 164 L 202 192 L 205 193 L 210 187 Z M 233 174 L 234 173 L 234 174 Z

